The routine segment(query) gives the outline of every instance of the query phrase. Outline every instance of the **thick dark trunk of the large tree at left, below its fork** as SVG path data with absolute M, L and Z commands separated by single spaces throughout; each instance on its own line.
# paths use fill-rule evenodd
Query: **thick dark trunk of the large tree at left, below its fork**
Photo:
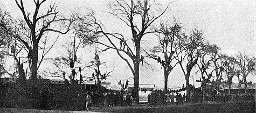
M 31 80 L 37 79 L 37 62 L 38 62 L 38 44 L 33 43 L 33 50 L 31 54 L 32 65 L 31 65 Z

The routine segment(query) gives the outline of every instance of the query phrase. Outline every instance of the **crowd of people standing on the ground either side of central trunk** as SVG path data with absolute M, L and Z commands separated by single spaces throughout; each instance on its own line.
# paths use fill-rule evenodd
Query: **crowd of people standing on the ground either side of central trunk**
M 87 92 L 85 95 L 86 101 L 83 104 L 84 110 L 89 110 L 90 107 L 108 107 L 113 108 L 117 105 L 132 105 L 133 96 L 132 93 L 120 93 L 108 91 L 105 93 L 99 92 Z M 210 95 L 205 96 L 205 101 L 216 102 L 229 102 L 229 101 L 255 101 L 253 95 Z M 191 97 L 180 93 L 171 93 L 171 91 L 155 90 L 148 95 L 148 105 L 157 106 L 160 105 L 183 105 L 184 102 L 203 102 L 202 93 L 195 93 Z

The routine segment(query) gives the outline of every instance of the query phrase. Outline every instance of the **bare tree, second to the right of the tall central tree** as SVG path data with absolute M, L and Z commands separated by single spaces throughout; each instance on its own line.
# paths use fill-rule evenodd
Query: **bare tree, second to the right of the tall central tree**
M 190 36 L 182 35 L 179 43 L 179 50 L 175 52 L 179 66 L 181 66 L 182 72 L 186 80 L 186 95 L 190 96 L 190 84 L 189 77 L 192 68 L 197 64 L 197 60 L 200 57 L 200 49 L 203 43 L 203 33 L 201 30 L 195 29 L 192 31 Z M 186 59 L 186 60 L 184 60 Z M 183 62 L 186 61 L 186 68 L 183 66 Z

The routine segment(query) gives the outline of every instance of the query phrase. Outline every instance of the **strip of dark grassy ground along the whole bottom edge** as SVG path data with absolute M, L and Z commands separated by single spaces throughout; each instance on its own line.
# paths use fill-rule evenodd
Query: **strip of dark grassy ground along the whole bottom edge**
M 185 103 L 182 106 L 171 105 L 163 107 L 150 107 L 148 105 L 133 105 L 108 108 L 94 108 L 90 111 L 61 111 L 61 110 L 35 110 L 35 109 L 16 109 L 0 108 L 0 112 L 255 112 L 255 102 L 203 102 Z

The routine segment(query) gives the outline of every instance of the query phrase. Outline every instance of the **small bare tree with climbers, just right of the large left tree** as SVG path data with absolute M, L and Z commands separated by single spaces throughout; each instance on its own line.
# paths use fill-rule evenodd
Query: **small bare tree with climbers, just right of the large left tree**
M 86 45 L 84 44 L 84 40 L 78 37 L 77 31 L 74 30 L 72 34 L 68 34 L 70 37 L 70 42 L 63 45 L 63 47 L 66 48 L 67 54 L 63 54 L 61 57 L 51 59 L 54 67 L 57 68 L 57 71 L 51 72 L 51 76 L 61 77 L 67 81 L 66 75 L 68 75 L 71 84 L 78 84 L 78 80 L 76 80 L 75 77 L 79 76 L 79 84 L 81 84 L 84 82 L 83 79 L 86 77 L 86 73 L 81 74 L 82 71 L 85 71 L 86 68 L 93 66 L 93 62 L 86 63 L 86 61 L 82 59 L 82 56 L 79 57 L 78 50 L 81 50 Z M 70 73 L 68 73 L 67 68 L 70 69 Z

